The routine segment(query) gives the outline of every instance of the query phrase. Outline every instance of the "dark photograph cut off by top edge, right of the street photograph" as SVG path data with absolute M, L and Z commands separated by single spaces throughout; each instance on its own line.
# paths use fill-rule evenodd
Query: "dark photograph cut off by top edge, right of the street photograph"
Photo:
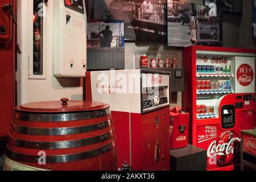
M 205 5 L 208 6 L 210 3 L 216 3 L 218 12 L 229 12 L 242 14 L 243 2 L 242 0 L 205 0 Z

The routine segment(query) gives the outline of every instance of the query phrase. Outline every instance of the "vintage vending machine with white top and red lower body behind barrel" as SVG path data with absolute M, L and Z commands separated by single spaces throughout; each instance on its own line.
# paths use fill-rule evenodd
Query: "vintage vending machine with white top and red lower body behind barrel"
M 88 101 L 112 109 L 118 165 L 170 169 L 170 72 L 143 69 L 86 72 Z

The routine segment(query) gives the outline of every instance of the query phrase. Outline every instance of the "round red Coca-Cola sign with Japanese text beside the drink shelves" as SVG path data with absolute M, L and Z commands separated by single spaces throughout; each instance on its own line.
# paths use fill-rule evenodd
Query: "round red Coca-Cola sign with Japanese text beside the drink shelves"
M 249 64 L 242 64 L 237 69 L 237 81 L 242 86 L 249 86 L 253 82 L 253 68 Z

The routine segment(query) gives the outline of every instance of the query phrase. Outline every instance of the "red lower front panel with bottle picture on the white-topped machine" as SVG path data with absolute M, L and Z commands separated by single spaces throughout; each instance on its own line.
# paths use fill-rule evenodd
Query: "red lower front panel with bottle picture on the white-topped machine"
M 169 106 L 142 116 L 142 165 L 144 171 L 170 170 Z

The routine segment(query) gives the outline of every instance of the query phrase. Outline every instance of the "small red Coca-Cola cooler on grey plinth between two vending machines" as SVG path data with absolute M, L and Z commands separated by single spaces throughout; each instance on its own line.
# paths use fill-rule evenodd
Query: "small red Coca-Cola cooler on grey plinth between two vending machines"
M 180 107 L 170 111 L 170 125 L 172 127 L 170 148 L 184 148 L 188 146 L 188 119 L 189 114 Z

